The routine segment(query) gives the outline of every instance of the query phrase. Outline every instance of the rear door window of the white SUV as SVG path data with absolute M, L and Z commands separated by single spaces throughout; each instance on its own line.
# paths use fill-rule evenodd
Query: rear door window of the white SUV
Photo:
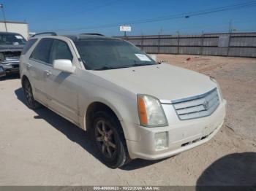
M 41 39 L 35 47 L 30 58 L 45 63 L 50 63 L 50 49 L 53 44 L 53 39 Z

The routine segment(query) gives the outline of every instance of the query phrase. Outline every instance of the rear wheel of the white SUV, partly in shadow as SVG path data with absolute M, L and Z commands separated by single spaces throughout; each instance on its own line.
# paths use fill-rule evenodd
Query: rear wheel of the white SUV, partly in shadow
M 24 79 L 22 88 L 26 100 L 26 105 L 29 107 L 29 109 L 38 109 L 41 104 L 34 100 L 34 95 L 29 79 Z

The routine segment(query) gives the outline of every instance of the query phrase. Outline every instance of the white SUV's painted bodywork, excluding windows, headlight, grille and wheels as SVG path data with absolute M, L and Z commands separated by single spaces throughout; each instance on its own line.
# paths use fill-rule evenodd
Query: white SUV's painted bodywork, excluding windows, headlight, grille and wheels
M 65 73 L 29 59 L 38 40 L 26 55 L 20 57 L 20 76 L 28 77 L 34 98 L 84 130 L 90 104 L 100 102 L 107 105 L 121 122 L 132 159 L 156 160 L 176 155 L 205 143 L 221 128 L 225 100 L 220 99 L 219 106 L 211 115 L 193 120 L 179 120 L 172 105 L 173 100 L 201 95 L 217 87 L 209 77 L 167 63 L 104 71 L 86 70 L 71 39 L 65 36 L 45 37 L 67 42 L 75 69 L 73 73 Z M 138 94 L 159 98 L 167 117 L 167 126 L 146 128 L 140 125 Z M 166 149 L 155 149 L 154 136 L 159 132 L 167 132 Z M 203 136 L 207 136 L 206 139 L 192 143 Z M 187 142 L 192 144 L 181 147 Z

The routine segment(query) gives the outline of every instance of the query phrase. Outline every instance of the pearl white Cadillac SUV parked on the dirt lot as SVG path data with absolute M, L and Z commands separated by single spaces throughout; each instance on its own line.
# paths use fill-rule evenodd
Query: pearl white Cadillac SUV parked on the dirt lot
M 214 78 L 159 64 L 122 39 L 45 35 L 20 57 L 26 104 L 89 130 L 109 167 L 177 155 L 222 127 L 226 101 Z

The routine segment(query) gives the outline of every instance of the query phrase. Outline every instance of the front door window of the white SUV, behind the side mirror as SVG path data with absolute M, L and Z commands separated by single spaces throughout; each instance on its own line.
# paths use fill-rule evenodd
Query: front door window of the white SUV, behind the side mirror
M 73 56 L 66 42 L 54 39 L 53 46 L 50 51 L 50 63 L 53 64 L 53 61 L 58 59 L 67 59 L 72 61 Z

